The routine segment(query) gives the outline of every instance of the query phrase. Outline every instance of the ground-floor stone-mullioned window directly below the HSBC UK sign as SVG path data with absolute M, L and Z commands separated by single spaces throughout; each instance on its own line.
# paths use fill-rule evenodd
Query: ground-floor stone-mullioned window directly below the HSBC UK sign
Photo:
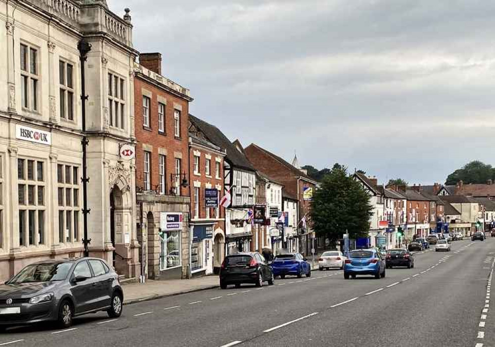
M 19 245 L 45 243 L 44 162 L 17 159 L 17 194 L 19 203 Z

